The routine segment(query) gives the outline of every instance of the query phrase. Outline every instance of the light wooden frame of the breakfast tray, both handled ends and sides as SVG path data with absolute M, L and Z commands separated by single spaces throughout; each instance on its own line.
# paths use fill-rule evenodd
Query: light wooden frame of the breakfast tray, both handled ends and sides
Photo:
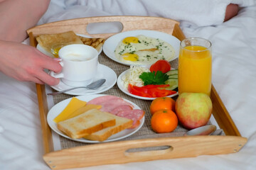
M 76 18 L 54 23 L 46 23 L 27 30 L 31 45 L 36 47 L 36 36 L 46 33 L 62 33 L 73 30 L 75 33 L 91 37 L 108 38 L 114 33 L 93 34 L 87 33 L 89 23 L 120 22 L 127 30 L 158 30 L 176 36 L 183 40 L 185 36 L 177 21 L 168 18 L 145 16 L 105 16 L 92 18 Z M 247 142 L 241 137 L 238 128 L 226 110 L 223 102 L 212 86 L 210 98 L 213 101 L 213 115 L 225 132 L 225 136 L 194 136 L 194 137 L 160 137 L 143 140 L 127 140 L 102 144 L 85 145 L 53 150 L 51 130 L 46 121 L 48 103 L 44 85 L 36 84 L 38 107 L 43 132 L 43 159 L 51 169 L 69 169 L 101 164 L 123 164 L 127 162 L 144 162 L 155 159 L 172 159 L 181 157 L 197 157 L 203 154 L 228 154 L 238 152 Z M 166 149 L 154 149 L 165 146 Z M 147 151 L 130 152 L 131 149 L 148 148 Z M 90 155 L 90 157 L 88 157 Z

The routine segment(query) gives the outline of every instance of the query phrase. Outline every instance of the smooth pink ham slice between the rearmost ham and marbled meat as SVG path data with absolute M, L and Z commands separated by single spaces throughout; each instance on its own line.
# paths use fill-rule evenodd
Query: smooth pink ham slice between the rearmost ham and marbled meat
M 109 113 L 114 108 L 117 108 L 117 107 L 123 106 L 123 105 L 127 105 L 127 106 L 134 108 L 134 106 L 131 103 L 124 101 L 124 99 L 122 99 L 122 98 L 114 98 L 109 101 L 102 102 L 102 103 L 100 103 L 100 105 L 102 106 L 102 108 L 100 108 L 100 111 L 105 111 L 105 112 L 109 112 Z

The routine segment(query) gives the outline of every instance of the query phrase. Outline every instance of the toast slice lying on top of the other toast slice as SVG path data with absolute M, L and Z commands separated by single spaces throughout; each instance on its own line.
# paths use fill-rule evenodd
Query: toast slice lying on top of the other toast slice
M 74 118 L 57 123 L 57 128 L 69 137 L 78 139 L 115 124 L 116 120 L 111 113 L 91 109 Z

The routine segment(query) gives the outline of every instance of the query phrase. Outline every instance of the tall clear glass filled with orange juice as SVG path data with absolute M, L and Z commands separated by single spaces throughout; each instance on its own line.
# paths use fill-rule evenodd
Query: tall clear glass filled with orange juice
M 211 79 L 211 42 L 204 38 L 187 38 L 181 41 L 178 57 L 178 94 L 192 92 L 210 96 Z

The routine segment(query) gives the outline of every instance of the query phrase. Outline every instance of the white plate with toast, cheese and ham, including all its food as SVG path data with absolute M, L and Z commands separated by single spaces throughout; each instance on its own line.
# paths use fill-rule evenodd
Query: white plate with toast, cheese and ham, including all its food
M 125 98 L 92 94 L 57 103 L 50 108 L 47 122 L 58 135 L 70 140 L 112 142 L 129 137 L 142 128 L 144 111 Z

